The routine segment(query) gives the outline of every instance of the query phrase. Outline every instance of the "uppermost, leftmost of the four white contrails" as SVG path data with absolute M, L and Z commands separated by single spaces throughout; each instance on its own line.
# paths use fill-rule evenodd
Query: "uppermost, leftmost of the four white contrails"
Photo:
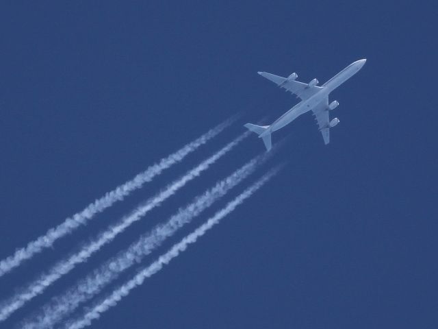
M 56 226 L 55 228 L 49 229 L 46 234 L 39 236 L 36 240 L 31 241 L 26 247 L 17 249 L 13 255 L 0 261 L 0 278 L 5 273 L 8 273 L 18 265 L 21 265 L 24 260 L 27 260 L 38 254 L 43 249 L 51 247 L 53 243 L 65 236 L 66 234 L 73 232 L 80 225 L 87 223 L 94 215 L 102 212 L 106 208 L 112 206 L 114 202 L 123 200 L 129 193 L 135 191 L 136 189 L 142 187 L 146 182 L 151 182 L 151 180 L 159 173 L 162 173 L 164 169 L 168 169 L 173 164 L 181 162 L 185 156 L 195 151 L 201 145 L 207 143 L 211 138 L 218 135 L 222 130 L 231 125 L 235 121 L 236 117 L 231 117 L 227 121 L 220 123 L 213 129 L 209 130 L 207 133 L 203 134 L 196 140 L 188 143 L 178 151 L 170 156 L 163 158 L 158 163 L 153 164 L 151 167 L 139 173 L 132 180 L 129 180 L 123 185 L 118 186 L 111 192 L 106 193 L 100 199 L 96 199 L 92 204 L 89 204 L 81 212 L 77 212 L 72 217 L 68 217 L 62 224 Z

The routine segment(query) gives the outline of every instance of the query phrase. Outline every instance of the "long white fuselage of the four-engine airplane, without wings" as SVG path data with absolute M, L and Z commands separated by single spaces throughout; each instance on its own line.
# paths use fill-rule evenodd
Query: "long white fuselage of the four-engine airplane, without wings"
M 318 106 L 326 97 L 329 96 L 329 93 L 331 93 L 333 90 L 335 90 L 335 88 L 346 82 L 346 80 L 350 79 L 350 77 L 355 75 L 357 71 L 359 71 L 365 64 L 365 61 L 366 60 L 357 60 L 356 62 L 348 65 L 345 69 L 337 73 L 337 75 L 335 75 L 325 84 L 323 84 L 318 93 L 315 93 L 315 95 L 309 97 L 308 99 L 300 101 L 300 103 L 296 104 L 296 106 L 285 112 L 285 114 L 279 117 L 279 119 L 276 119 L 276 121 L 274 121 L 274 123 L 272 123 L 272 125 L 270 125 L 270 127 L 265 132 L 263 132 L 263 134 L 260 134 L 259 137 L 263 138 L 263 136 L 266 136 L 267 134 L 271 134 L 272 132 L 283 128 L 285 125 L 294 121 L 301 114 L 309 112 L 310 110 Z

